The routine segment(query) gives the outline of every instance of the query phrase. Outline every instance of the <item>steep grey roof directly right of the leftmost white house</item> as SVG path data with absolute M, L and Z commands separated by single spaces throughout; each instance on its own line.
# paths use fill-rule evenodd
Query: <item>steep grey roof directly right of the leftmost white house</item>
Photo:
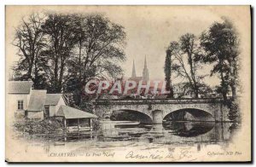
M 43 111 L 46 99 L 46 90 L 33 89 L 27 111 Z

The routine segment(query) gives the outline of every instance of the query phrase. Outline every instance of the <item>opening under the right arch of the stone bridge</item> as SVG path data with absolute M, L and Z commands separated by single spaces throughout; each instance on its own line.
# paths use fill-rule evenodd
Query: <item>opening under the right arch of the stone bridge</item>
M 214 115 L 199 108 L 181 108 L 172 112 L 167 112 L 163 120 L 194 120 L 194 121 L 214 121 Z

